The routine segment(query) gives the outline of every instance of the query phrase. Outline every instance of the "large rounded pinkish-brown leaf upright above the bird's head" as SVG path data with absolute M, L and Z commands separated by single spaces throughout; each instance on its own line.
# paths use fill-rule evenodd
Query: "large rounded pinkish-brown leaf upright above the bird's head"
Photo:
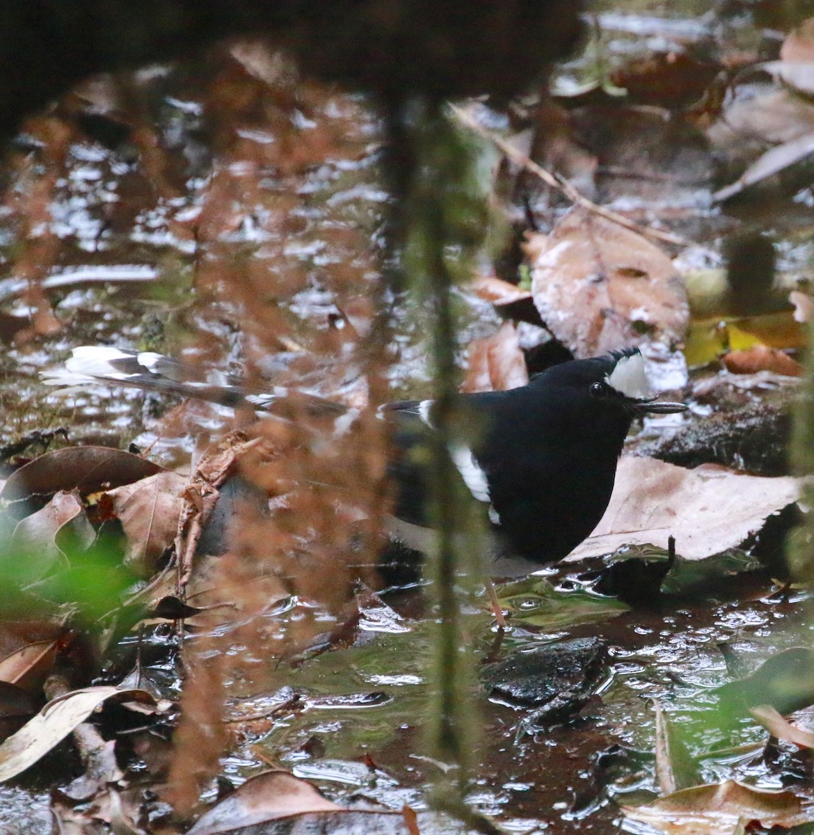
M 664 252 L 623 226 L 572 210 L 549 235 L 528 238 L 540 316 L 575 357 L 685 335 L 683 281 Z

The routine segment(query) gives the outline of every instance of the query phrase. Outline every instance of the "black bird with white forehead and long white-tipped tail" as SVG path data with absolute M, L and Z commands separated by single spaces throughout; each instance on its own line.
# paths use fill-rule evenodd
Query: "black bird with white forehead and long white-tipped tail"
M 125 385 L 230 406 L 248 402 L 260 410 L 273 410 L 286 397 L 286 390 L 279 388 L 252 395 L 236 385 L 189 382 L 184 368 L 167 357 L 112 347 L 75 348 L 63 369 L 43 377 L 63 387 Z M 533 570 L 567 556 L 608 507 L 616 463 L 634 418 L 687 408 L 655 400 L 637 348 L 564 362 L 508 391 L 461 397 L 480 437 L 472 448 L 463 443 L 450 448 L 450 457 L 470 493 L 488 511 L 493 554 L 519 558 L 498 574 Z M 353 412 L 313 400 L 316 407 L 336 414 L 336 431 L 351 425 Z M 407 549 L 426 550 L 429 491 L 421 458 L 412 453 L 432 432 L 433 403 L 397 402 L 380 413 L 396 422 L 390 466 L 397 485 L 392 535 Z

